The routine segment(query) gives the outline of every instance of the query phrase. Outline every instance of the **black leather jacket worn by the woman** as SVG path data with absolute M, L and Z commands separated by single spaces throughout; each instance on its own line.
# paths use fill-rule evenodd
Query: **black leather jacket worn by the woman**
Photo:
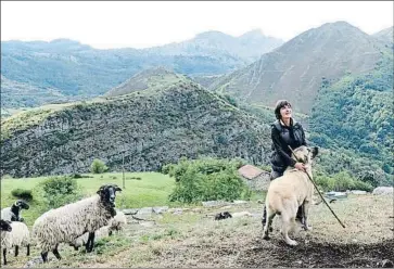
M 293 150 L 306 145 L 304 129 L 301 124 L 293 124 L 291 119 L 290 127 L 283 126 L 279 120 L 271 124 L 271 156 L 270 162 L 272 169 L 283 172 L 288 166 L 294 166 L 295 161 L 291 158 L 291 151 L 288 145 Z

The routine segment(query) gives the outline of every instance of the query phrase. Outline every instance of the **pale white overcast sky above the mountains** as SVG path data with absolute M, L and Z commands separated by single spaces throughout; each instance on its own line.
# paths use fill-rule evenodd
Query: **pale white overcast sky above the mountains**
M 373 34 L 393 26 L 393 1 L 1 1 L 1 41 L 68 38 L 140 49 L 253 29 L 288 41 L 336 21 Z

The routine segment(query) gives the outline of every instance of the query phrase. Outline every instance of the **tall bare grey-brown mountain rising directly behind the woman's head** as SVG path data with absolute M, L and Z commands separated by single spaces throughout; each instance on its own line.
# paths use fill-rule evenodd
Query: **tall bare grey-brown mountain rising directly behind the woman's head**
M 209 89 L 269 106 L 288 99 L 295 111 L 308 114 L 322 78 L 371 71 L 381 54 L 382 46 L 373 37 L 346 22 L 329 23 L 223 76 Z

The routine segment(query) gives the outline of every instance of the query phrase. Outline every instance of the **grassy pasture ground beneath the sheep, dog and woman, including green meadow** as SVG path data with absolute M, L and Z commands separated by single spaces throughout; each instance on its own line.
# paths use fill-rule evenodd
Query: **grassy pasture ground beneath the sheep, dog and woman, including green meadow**
M 93 178 L 78 179 L 87 195 L 106 182 L 122 187 L 122 174 L 89 175 Z M 128 178 L 128 179 L 127 179 Z M 140 178 L 140 180 L 136 179 Z M 4 179 L 1 181 L 1 206 L 9 206 L 15 198 L 11 190 L 34 188 L 42 178 Z M 323 203 L 312 206 L 313 231 L 297 230 L 293 238 L 300 245 L 287 246 L 279 234 L 278 218 L 274 221 L 271 240 L 262 239 L 262 204 L 256 194 L 247 203 L 216 207 L 180 205 L 167 202 L 174 188 L 174 179 L 154 172 L 126 174 L 126 189 L 116 197 L 117 207 L 140 208 L 168 205 L 164 214 L 148 214 L 140 221 L 128 218 L 127 229 L 114 236 L 98 240 L 90 254 L 74 251 L 63 244 L 58 261 L 50 253 L 47 265 L 38 260 L 39 252 L 31 247 L 31 255 L 9 255 L 8 267 L 382 267 L 385 259 L 394 261 L 393 197 L 349 195 L 330 204 L 345 223 L 343 229 Z M 27 225 L 33 225 L 40 213 L 35 202 L 22 214 Z M 181 208 L 175 210 L 173 208 Z M 173 210 L 171 210 L 173 209 Z M 228 210 L 249 212 L 251 217 L 214 220 L 214 215 Z M 150 221 L 154 220 L 154 221 Z

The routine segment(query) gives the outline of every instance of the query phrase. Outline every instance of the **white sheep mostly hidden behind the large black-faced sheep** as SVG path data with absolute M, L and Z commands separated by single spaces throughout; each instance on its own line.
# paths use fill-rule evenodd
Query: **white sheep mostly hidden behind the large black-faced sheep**
M 113 231 L 122 231 L 126 225 L 127 225 L 126 215 L 123 212 L 116 210 L 115 217 L 110 219 L 109 225 L 101 227 L 99 230 L 94 232 L 94 239 L 111 236 Z M 87 245 L 88 239 L 89 239 L 89 233 L 87 232 L 84 235 L 74 240 L 74 242 L 72 242 L 69 245 L 74 246 L 75 251 L 78 251 L 79 246 L 82 245 L 85 245 L 86 247 L 88 246 Z

